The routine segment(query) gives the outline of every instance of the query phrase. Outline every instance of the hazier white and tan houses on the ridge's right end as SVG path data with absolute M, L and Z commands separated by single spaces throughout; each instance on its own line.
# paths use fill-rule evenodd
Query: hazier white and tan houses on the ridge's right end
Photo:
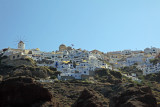
M 160 63 L 153 64 L 150 60 L 155 59 L 160 53 L 159 48 L 151 47 L 142 50 L 124 50 L 107 53 L 107 61 L 115 68 L 135 65 L 143 71 L 143 75 L 150 73 L 158 73 L 160 71 Z

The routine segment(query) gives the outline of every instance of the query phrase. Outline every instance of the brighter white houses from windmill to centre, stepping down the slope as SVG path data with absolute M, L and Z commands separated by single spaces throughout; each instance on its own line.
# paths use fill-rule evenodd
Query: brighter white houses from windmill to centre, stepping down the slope
M 29 57 L 38 66 L 51 66 L 61 71 L 59 79 L 85 79 L 92 77 L 97 68 L 108 68 L 102 55 L 90 51 L 73 49 L 61 44 L 56 52 L 42 52 L 37 49 L 25 49 L 23 41 L 18 43 L 18 49 L 3 49 L 3 56 L 11 60 Z

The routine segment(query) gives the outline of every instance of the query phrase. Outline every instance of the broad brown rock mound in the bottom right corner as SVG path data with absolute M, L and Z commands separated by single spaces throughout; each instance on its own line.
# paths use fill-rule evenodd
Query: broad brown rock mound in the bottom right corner
M 150 87 L 125 86 L 126 89 L 110 100 L 110 107 L 157 107 Z

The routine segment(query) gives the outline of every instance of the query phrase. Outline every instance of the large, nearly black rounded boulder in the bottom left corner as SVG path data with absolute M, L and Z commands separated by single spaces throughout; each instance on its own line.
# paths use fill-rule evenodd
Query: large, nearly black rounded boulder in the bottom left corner
M 52 101 L 50 92 L 32 78 L 11 78 L 2 81 L 0 87 L 0 107 L 39 107 Z

